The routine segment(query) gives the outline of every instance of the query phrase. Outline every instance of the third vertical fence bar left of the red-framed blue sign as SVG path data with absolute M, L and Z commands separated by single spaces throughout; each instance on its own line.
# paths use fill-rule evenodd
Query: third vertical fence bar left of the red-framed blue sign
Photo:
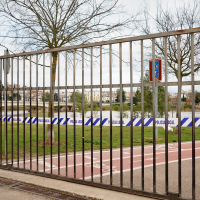
M 123 130 L 122 130 L 122 43 L 119 43 L 120 79 L 120 187 L 123 187 Z

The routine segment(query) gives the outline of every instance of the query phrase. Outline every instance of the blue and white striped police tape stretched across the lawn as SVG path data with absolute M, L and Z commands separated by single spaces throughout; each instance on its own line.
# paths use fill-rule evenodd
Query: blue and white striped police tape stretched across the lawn
M 3 117 L 3 121 L 6 120 L 6 117 Z M 45 120 L 46 124 L 50 124 L 50 118 L 38 118 L 38 124 L 43 124 Z M 12 117 L 7 117 L 7 122 L 11 122 L 12 121 Z M 17 117 L 13 117 L 13 121 L 17 122 Z M 24 118 L 23 117 L 19 117 L 19 122 L 24 123 Z M 25 117 L 25 123 L 32 123 L 32 124 L 36 124 L 37 123 L 37 118 L 36 117 L 32 117 L 30 119 L 30 117 Z M 60 125 L 65 125 L 66 123 L 68 125 L 73 125 L 74 124 L 74 120 L 73 118 L 67 118 L 67 120 L 65 118 L 60 118 L 59 122 L 58 122 L 58 118 L 52 118 L 52 124 L 60 124 Z M 76 118 L 75 121 L 76 125 L 82 125 L 82 118 Z M 91 125 L 91 118 L 85 118 L 84 119 L 84 123 L 85 126 L 89 126 Z M 110 126 L 110 119 L 108 118 L 103 118 L 102 119 L 102 126 Z M 131 121 L 130 119 L 123 119 L 122 120 L 122 125 L 123 126 L 131 126 Z M 133 126 L 141 126 L 142 125 L 142 120 L 141 118 L 133 118 Z M 165 125 L 165 119 L 164 118 L 156 118 L 156 126 L 161 126 L 163 127 Z M 93 118 L 93 126 L 100 126 L 100 118 Z M 120 120 L 119 119 L 113 119 L 112 120 L 112 126 L 120 126 Z M 144 118 L 144 126 L 153 126 L 153 118 Z M 168 119 L 168 126 L 171 127 L 176 127 L 178 126 L 178 119 L 177 118 L 169 118 Z M 182 118 L 181 119 L 181 126 L 182 127 L 192 127 L 192 118 Z M 200 127 L 200 118 L 195 118 L 195 127 Z

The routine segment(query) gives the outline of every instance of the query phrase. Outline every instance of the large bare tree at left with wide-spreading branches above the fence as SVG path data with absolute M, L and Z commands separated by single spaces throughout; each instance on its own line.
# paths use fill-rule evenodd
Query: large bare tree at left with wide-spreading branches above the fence
M 1 0 L 0 13 L 9 25 L 4 36 L 12 39 L 18 47 L 22 46 L 23 51 L 102 40 L 113 33 L 116 36 L 116 31 L 131 21 L 130 17 L 119 20 L 118 16 L 122 14 L 122 10 L 118 6 L 118 0 L 97 2 L 96 0 Z M 58 53 L 53 52 L 53 88 L 57 58 Z M 52 100 L 53 95 L 54 91 L 52 91 Z M 48 117 L 51 115 L 50 110 L 51 108 L 49 108 Z M 54 117 L 54 112 L 52 117 Z M 50 143 L 50 139 L 49 126 L 47 143 Z

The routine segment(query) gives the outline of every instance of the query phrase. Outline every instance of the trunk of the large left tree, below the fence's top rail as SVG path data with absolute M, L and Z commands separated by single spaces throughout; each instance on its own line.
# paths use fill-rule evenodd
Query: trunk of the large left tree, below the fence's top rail
M 48 118 L 54 118 L 54 88 L 56 82 L 56 64 L 58 60 L 58 52 L 52 53 L 53 62 L 52 62 L 52 93 L 49 97 L 49 109 L 48 109 Z M 59 95 L 59 94 L 58 94 Z M 52 100 L 52 101 L 51 101 Z M 51 112 L 51 105 L 52 105 L 52 112 Z M 47 126 L 47 145 L 51 144 L 51 124 Z M 54 144 L 54 125 L 52 124 L 52 144 Z

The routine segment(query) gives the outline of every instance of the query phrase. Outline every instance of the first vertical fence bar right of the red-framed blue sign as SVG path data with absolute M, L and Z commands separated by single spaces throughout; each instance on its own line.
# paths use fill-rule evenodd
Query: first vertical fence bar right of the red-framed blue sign
M 165 40 L 165 193 L 168 194 L 168 74 L 167 74 L 167 37 Z

